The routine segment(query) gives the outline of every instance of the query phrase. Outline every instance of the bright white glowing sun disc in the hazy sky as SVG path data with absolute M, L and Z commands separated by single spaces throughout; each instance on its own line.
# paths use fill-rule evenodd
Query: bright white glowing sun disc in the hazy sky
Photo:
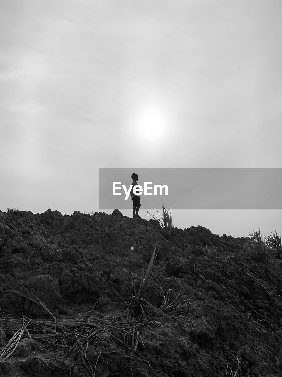
M 165 119 L 164 112 L 160 108 L 148 106 L 139 113 L 136 127 L 142 138 L 155 141 L 165 134 L 167 120 Z

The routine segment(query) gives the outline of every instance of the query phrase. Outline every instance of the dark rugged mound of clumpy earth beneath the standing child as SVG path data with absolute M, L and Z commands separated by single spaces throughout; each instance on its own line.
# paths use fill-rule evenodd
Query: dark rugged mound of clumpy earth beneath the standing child
M 118 210 L 0 211 L 0 375 L 277 375 L 282 261 L 246 241 Z M 132 287 L 156 245 L 143 313 Z

